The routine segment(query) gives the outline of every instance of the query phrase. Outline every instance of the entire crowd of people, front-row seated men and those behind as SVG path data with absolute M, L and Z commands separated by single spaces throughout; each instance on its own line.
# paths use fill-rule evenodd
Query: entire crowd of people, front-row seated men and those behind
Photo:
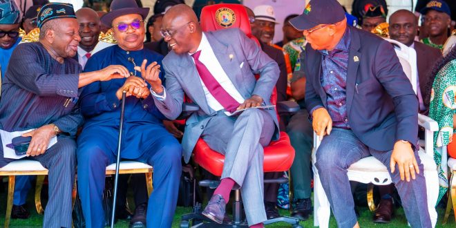
M 246 6 L 254 41 L 236 28 L 203 31 L 183 1 L 155 8 L 149 18 L 150 9 L 134 0 L 113 0 L 107 13 L 45 3 L 20 18 L 21 8 L 6 0 L 0 4 L 0 167 L 30 159 L 48 169 L 43 227 L 72 227 L 77 173 L 86 227 L 104 227 L 105 169 L 117 158 L 124 103 L 120 157 L 153 166 L 150 196 L 144 174 L 121 175 L 116 216 L 128 218 L 130 227 L 171 227 L 182 171 L 190 167 L 200 138 L 225 155 L 222 175 L 216 177 L 220 184 L 210 192 L 202 216 L 226 222 L 231 190 L 240 189 L 249 227 L 279 218 L 277 206 L 287 193 L 263 180 L 283 173 L 263 173 L 263 147 L 281 131 L 296 154 L 289 171 L 290 216 L 302 221 L 312 216 L 315 134 L 321 140 L 315 166 L 339 227 L 360 226 L 356 186 L 346 171 L 371 155 L 394 182 L 378 187 L 372 221 L 392 222 L 400 199 L 412 227 L 432 227 L 428 211 L 419 209 L 427 208 L 427 200 L 417 115 L 439 125 L 433 143 L 440 200 L 448 189 L 446 160 L 456 158 L 453 5 L 430 0 L 417 14 L 370 4 L 356 23 L 336 0 L 307 2 L 301 15 L 284 21 L 276 18 L 274 11 L 281 9 L 274 6 Z M 280 39 L 274 39 L 277 23 L 283 23 Z M 416 93 L 394 47 L 372 34 L 381 24 L 388 39 L 417 53 Z M 115 44 L 99 48 L 105 33 Z M 253 108 L 270 104 L 274 89 L 279 102 L 295 101 L 300 110 L 278 118 L 272 109 Z M 199 110 L 185 124 L 174 121 L 187 99 Z M 13 135 L 28 138 L 25 155 L 15 154 Z M 33 182 L 32 176 L 17 177 L 12 218 L 30 217 L 26 198 Z M 129 184 L 133 213 L 125 204 Z

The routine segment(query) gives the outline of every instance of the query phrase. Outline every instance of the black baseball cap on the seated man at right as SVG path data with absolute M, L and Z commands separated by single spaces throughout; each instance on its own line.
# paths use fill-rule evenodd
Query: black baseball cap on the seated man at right
M 289 20 L 297 30 L 307 30 L 319 24 L 332 24 L 342 21 L 345 11 L 336 0 L 311 0 L 302 15 Z

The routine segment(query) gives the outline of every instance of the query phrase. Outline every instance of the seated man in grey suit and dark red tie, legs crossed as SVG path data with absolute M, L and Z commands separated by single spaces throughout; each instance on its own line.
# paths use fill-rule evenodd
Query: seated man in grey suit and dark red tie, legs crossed
M 162 61 L 167 88 L 158 77 L 160 66 L 153 63 L 146 68 L 145 62 L 141 66 L 155 105 L 171 120 L 182 111 L 184 93 L 200 106 L 187 120 L 182 139 L 186 162 L 199 137 L 225 154 L 222 182 L 203 214 L 221 223 L 236 185 L 243 195 L 247 222 L 263 227 L 263 146 L 278 138 L 278 121 L 273 109 L 251 107 L 270 104 L 280 73 L 276 62 L 238 29 L 202 32 L 189 6 L 170 8 L 162 28 L 164 40 L 173 49 Z M 260 73 L 258 80 L 254 73 Z M 249 109 L 231 115 L 242 108 Z

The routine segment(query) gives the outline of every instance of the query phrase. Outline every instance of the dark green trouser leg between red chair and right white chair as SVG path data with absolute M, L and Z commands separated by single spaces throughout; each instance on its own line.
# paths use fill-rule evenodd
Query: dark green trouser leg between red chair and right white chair
M 310 181 L 312 173 L 310 172 L 310 159 L 312 155 L 312 141 L 314 140 L 312 124 L 307 117 L 306 109 L 301 109 L 294 114 L 287 125 L 287 134 L 289 141 L 292 143 L 295 154 L 294 161 L 290 171 L 292 172 L 294 199 L 310 198 L 312 189 Z

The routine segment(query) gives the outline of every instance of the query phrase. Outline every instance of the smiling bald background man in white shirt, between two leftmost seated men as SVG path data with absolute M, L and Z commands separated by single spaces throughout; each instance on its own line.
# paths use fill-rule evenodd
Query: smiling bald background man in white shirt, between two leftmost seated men
M 97 12 L 91 8 L 77 10 L 76 17 L 77 23 L 79 23 L 79 36 L 81 36 L 81 41 L 77 46 L 77 61 L 84 68 L 88 58 L 92 55 L 93 48 L 98 43 L 100 23 Z

